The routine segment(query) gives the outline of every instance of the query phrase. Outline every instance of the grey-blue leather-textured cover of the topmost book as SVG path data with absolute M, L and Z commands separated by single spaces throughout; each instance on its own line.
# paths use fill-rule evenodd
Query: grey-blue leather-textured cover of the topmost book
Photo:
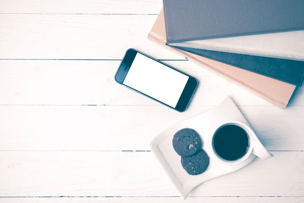
M 303 0 L 163 0 L 168 44 L 304 29 Z

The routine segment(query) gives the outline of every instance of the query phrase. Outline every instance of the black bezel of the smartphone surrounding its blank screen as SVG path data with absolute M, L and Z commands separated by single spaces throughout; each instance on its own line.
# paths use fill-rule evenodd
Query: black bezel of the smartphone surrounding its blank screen
M 175 108 L 173 108 L 173 107 L 171 107 L 171 106 L 163 103 L 162 101 L 160 101 L 158 99 L 155 99 L 155 98 L 153 98 L 153 97 L 151 97 L 151 96 L 149 96 L 149 95 L 147 95 L 147 94 L 145 94 L 143 92 L 140 92 L 140 91 L 138 91 L 138 90 L 136 90 L 136 89 L 134 89 L 132 87 L 129 87 L 129 86 L 123 84 L 123 82 L 124 82 L 124 80 L 125 80 L 128 72 L 130 70 L 130 67 L 131 67 L 131 65 L 132 65 L 132 63 L 134 61 L 134 58 L 135 58 L 135 56 L 136 56 L 137 53 L 140 53 L 140 54 L 142 54 L 142 55 L 144 55 L 144 56 L 146 56 L 146 57 L 148 57 L 150 59 L 153 59 L 153 60 L 155 60 L 155 61 L 157 61 L 159 63 L 162 63 L 163 65 L 166 65 L 167 67 L 170 67 L 170 69 L 173 69 L 173 70 L 175 70 L 175 71 L 177 71 L 177 72 L 179 72 L 181 74 L 184 74 L 184 75 L 186 75 L 186 76 L 189 77 L 189 79 L 188 79 L 188 81 L 187 81 L 187 83 L 186 83 L 186 85 L 185 85 L 185 87 L 184 87 L 184 89 L 183 89 L 183 91 L 182 91 L 182 93 L 181 93 L 181 95 L 179 97 L 179 100 L 178 100 L 177 105 L 176 105 Z M 194 78 L 193 76 L 190 76 L 190 75 L 188 75 L 186 73 L 183 73 L 183 72 L 175 69 L 174 67 L 172 67 L 172 66 L 170 66 L 170 65 L 168 65 L 168 64 L 166 64 L 166 63 L 164 63 L 162 61 L 159 61 L 159 60 L 157 60 L 157 59 L 155 59 L 155 58 L 153 58 L 151 56 L 148 56 L 148 55 L 146 55 L 146 54 L 144 54 L 144 53 L 142 53 L 142 52 L 140 52 L 140 51 L 138 51 L 136 49 L 133 49 L 133 48 L 128 49 L 126 51 L 125 56 L 123 57 L 120 65 L 119 65 L 119 68 L 118 68 L 118 70 L 117 70 L 117 72 L 115 74 L 115 81 L 117 83 L 119 83 L 119 84 L 121 84 L 121 85 L 123 85 L 123 86 L 125 86 L 125 87 L 127 87 L 127 88 L 129 88 L 129 89 L 131 89 L 131 90 L 133 90 L 133 91 L 135 91 L 137 93 L 139 93 L 139 94 L 142 94 L 142 95 L 144 95 L 144 96 L 146 96 L 146 97 L 148 97 L 150 99 L 153 99 L 153 100 L 157 101 L 158 103 L 161 103 L 161 104 L 163 104 L 163 105 L 165 105 L 165 106 L 167 106 L 167 107 L 169 107 L 171 109 L 174 109 L 175 111 L 178 111 L 178 112 L 184 112 L 187 109 L 187 107 L 190 104 L 190 101 L 191 101 L 191 99 L 192 99 L 192 97 L 193 97 L 193 95 L 194 95 L 194 93 L 195 93 L 195 91 L 196 91 L 196 89 L 198 87 L 198 84 L 199 84 L 198 80 L 196 78 Z

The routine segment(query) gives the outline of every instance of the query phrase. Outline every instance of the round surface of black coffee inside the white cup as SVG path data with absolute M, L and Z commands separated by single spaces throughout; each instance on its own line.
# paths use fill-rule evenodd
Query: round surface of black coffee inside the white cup
M 225 125 L 213 137 L 213 148 L 221 158 L 235 161 L 242 158 L 249 148 L 247 132 L 237 125 Z

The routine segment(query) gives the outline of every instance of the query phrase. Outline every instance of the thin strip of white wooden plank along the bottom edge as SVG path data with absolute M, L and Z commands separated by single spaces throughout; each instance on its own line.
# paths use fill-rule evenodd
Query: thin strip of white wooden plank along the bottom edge
M 127 202 L 127 203 L 197 203 L 197 202 L 208 202 L 208 203 L 256 203 L 256 202 L 267 202 L 267 203 L 300 203 L 304 201 L 304 197 L 187 197 L 186 200 L 180 197 L 60 197 L 60 198 L 0 198 L 1 203 L 99 203 L 99 202 Z

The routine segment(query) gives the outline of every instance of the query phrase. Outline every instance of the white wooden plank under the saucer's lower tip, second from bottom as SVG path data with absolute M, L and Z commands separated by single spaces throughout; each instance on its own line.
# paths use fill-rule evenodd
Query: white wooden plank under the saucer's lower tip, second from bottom
M 190 196 L 302 196 L 304 152 L 273 152 Z M 179 196 L 151 152 L 0 152 L 0 196 Z

